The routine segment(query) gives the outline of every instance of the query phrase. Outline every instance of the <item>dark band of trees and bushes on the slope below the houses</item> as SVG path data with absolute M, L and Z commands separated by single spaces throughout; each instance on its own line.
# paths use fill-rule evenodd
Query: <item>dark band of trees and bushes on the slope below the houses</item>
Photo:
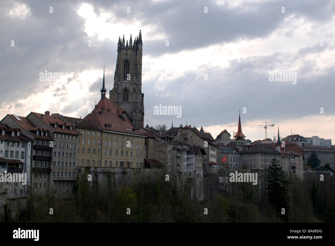
M 284 215 L 270 203 L 273 195 L 255 195 L 252 184 L 234 183 L 233 192 L 191 201 L 188 191 L 177 193 L 163 181 L 116 187 L 112 179 L 90 185 L 86 177 L 77 180 L 74 199 L 30 197 L 15 221 L 7 213 L 5 222 L 335 222 L 334 176 L 310 184 L 288 177 Z

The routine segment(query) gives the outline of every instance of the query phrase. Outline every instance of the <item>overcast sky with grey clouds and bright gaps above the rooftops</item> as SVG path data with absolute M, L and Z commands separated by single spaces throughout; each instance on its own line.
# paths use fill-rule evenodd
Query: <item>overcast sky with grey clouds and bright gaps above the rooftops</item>
M 271 139 L 279 125 L 281 137 L 292 129 L 334 144 L 332 0 L 3 1 L 0 118 L 86 116 L 100 99 L 104 64 L 107 92 L 113 88 L 119 36 L 139 30 L 144 125 L 187 121 L 215 138 L 237 131 L 228 125 L 237 125 L 241 108 L 243 125 L 275 124 Z M 67 76 L 41 82 L 45 70 Z M 296 72 L 296 84 L 270 82 L 273 71 Z M 181 117 L 154 115 L 159 104 L 181 106 Z M 242 130 L 252 141 L 265 137 L 263 127 Z

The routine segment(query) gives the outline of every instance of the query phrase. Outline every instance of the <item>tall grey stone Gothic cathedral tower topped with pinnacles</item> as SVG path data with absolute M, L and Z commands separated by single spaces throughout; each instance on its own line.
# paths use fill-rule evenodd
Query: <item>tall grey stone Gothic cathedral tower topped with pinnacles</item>
M 127 111 L 133 126 L 143 126 L 144 105 L 142 93 L 142 35 L 141 30 L 134 43 L 131 35 L 127 43 L 125 37 L 118 42 L 118 56 L 114 74 L 114 87 L 109 91 L 109 99 Z

